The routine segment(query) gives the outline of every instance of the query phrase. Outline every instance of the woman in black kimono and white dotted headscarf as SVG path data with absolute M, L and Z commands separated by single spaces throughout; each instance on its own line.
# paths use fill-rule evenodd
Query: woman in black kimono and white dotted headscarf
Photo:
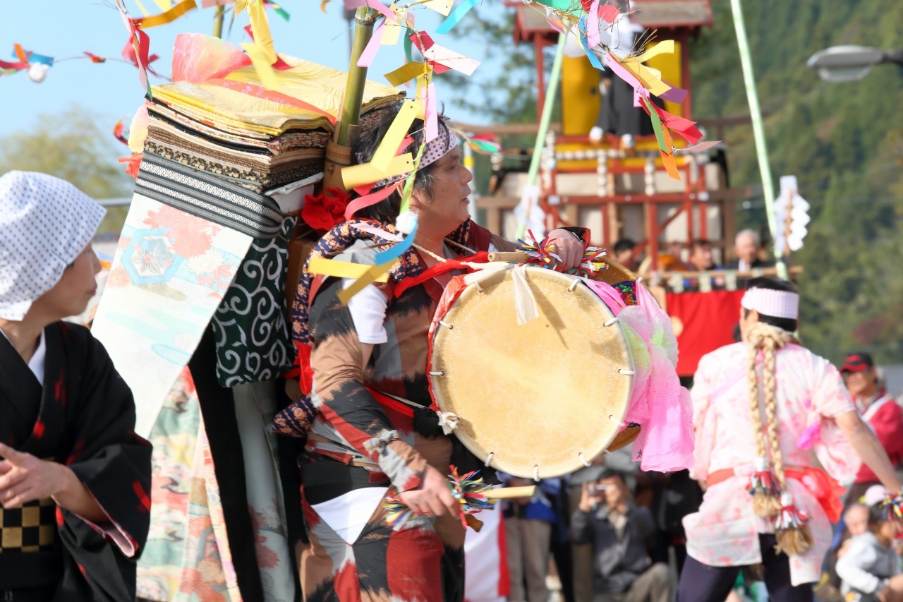
M 78 315 L 105 210 L 47 174 L 0 177 L 0 598 L 135 599 L 151 447 Z

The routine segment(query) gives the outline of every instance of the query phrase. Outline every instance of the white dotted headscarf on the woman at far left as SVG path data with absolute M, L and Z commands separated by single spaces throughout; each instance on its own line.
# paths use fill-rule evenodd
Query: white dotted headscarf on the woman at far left
M 52 175 L 0 176 L 0 318 L 22 320 L 88 246 L 106 212 Z

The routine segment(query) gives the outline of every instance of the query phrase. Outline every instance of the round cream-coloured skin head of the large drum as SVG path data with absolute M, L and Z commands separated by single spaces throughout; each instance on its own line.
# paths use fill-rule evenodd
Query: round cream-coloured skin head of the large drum
M 633 360 L 610 309 L 589 287 L 572 287 L 572 276 L 527 268 L 539 317 L 518 325 L 511 274 L 482 280 L 483 292 L 470 285 L 437 316 L 433 395 L 460 419 L 455 435 L 489 466 L 565 475 L 618 434 Z

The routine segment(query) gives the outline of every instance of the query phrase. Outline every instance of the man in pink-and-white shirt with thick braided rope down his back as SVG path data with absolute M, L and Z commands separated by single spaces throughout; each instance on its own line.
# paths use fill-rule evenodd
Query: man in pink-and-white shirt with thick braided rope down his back
M 840 373 L 796 340 L 793 286 L 753 278 L 740 305 L 742 342 L 704 355 L 694 376 L 691 475 L 706 492 L 684 518 L 677 600 L 722 602 L 760 563 L 769 600 L 811 602 L 843 510 L 838 481 L 861 461 L 889 491 L 900 484 Z

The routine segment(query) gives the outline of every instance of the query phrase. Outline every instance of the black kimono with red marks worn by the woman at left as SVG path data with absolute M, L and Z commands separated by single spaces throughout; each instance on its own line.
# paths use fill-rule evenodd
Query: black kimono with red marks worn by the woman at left
M 0 335 L 0 441 L 69 466 L 109 523 L 101 529 L 49 498 L 0 508 L 0 595 L 134 600 L 135 560 L 150 526 L 151 445 L 133 430 L 131 390 L 87 328 L 49 325 L 44 343 L 42 386 Z

